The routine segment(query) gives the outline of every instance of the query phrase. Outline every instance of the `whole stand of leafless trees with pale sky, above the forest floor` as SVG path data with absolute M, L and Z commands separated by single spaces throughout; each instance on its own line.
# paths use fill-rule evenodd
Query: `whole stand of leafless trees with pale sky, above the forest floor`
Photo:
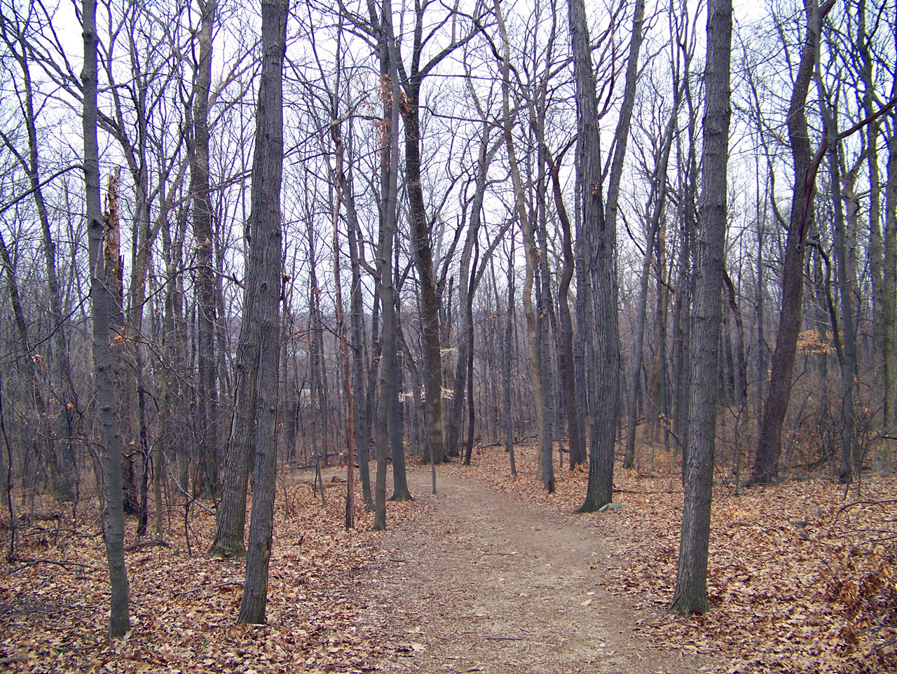
M 382 530 L 406 462 L 533 444 L 582 513 L 664 465 L 685 615 L 714 480 L 893 471 L 893 0 L 0 0 L 0 38 L 5 557 L 100 514 L 112 637 L 172 511 L 264 623 L 291 470 Z

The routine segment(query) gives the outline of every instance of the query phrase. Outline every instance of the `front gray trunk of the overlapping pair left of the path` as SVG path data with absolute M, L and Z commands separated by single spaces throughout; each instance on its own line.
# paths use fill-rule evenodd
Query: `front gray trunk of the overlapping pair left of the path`
M 256 110 L 249 207 L 247 294 L 257 293 L 253 327 L 258 333 L 257 402 L 254 421 L 255 470 L 246 550 L 246 582 L 239 623 L 265 623 L 268 563 L 274 539 L 277 471 L 277 393 L 280 368 L 283 231 L 280 192 L 283 177 L 283 57 L 287 0 L 262 0 L 262 72 Z M 246 316 L 246 318 L 250 318 Z

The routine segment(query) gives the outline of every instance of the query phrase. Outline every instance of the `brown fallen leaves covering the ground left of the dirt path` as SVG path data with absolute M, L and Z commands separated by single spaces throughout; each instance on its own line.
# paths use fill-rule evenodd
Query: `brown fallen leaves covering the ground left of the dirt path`
M 376 661 L 408 647 L 361 623 L 364 599 L 355 580 L 376 550 L 370 514 L 360 509 L 356 529 L 344 531 L 344 499 L 327 499 L 324 508 L 299 477 L 282 478 L 290 498 L 278 499 L 275 514 L 266 626 L 235 624 L 245 561 L 202 554 L 212 543 L 214 521 L 201 509 L 190 514 L 192 556 L 177 515 L 166 522 L 168 546 L 137 540 L 135 522 L 128 522 L 132 629 L 114 644 L 106 638 L 109 579 L 96 512 L 60 523 L 53 536 L 35 527 L 20 529 L 21 561 L 0 575 L 0 670 L 374 670 Z M 356 503 L 362 503 L 361 494 Z M 406 504 L 390 504 L 389 525 L 411 513 Z

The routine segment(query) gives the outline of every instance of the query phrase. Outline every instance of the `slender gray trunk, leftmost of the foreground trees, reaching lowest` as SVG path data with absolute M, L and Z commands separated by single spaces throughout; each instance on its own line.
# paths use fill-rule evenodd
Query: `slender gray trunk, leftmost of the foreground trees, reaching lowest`
M 130 628 L 128 585 L 125 567 L 125 509 L 121 482 L 121 432 L 118 404 L 112 381 L 112 351 L 109 341 L 111 287 L 103 264 L 105 226 L 100 214 L 100 148 L 97 142 L 97 5 L 85 0 L 82 10 L 84 66 L 83 85 L 84 192 L 91 260 L 91 319 L 93 322 L 93 369 L 103 443 L 106 480 L 106 559 L 109 563 L 109 638 L 118 639 Z

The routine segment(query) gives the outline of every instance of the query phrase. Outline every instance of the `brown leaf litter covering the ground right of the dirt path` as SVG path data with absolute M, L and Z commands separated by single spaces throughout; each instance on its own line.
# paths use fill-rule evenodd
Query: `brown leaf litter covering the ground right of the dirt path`
M 666 612 L 675 591 L 683 490 L 658 457 L 649 473 L 614 471 L 626 508 L 573 514 L 588 474 L 555 468 L 556 490 L 536 482 L 536 447 L 519 447 L 517 479 L 501 448 L 450 471 L 594 528 L 613 552 L 605 590 L 647 610 L 633 629 L 658 648 L 722 653 L 719 672 L 897 671 L 897 479 L 863 476 L 845 491 L 826 475 L 741 489 L 714 484 L 708 593 L 711 610 Z M 521 470 L 522 467 L 522 470 Z M 607 546 L 605 546 L 606 548 Z

